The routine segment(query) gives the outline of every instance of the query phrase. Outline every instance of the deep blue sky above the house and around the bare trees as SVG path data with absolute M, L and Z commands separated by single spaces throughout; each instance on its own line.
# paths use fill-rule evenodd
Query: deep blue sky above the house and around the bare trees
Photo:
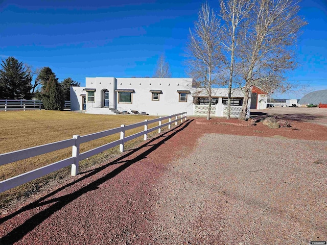
M 218 0 L 207 1 L 219 11 Z M 165 54 L 172 77 L 185 74 L 184 51 L 203 1 L 0 0 L 0 58 L 49 66 L 59 81 L 71 77 L 152 77 Z M 300 66 L 289 80 L 305 91 L 327 89 L 327 1 L 304 0 L 309 24 L 298 41 Z

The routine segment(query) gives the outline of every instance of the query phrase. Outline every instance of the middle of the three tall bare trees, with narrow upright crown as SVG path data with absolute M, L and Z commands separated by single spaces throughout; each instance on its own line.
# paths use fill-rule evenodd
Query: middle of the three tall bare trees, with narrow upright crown
M 229 69 L 227 119 L 230 119 L 231 88 L 235 75 L 236 48 L 239 43 L 239 33 L 244 30 L 246 18 L 253 4 L 253 0 L 220 0 L 220 17 L 224 21 L 224 25 L 219 34 L 222 46 L 227 51 L 225 61 Z

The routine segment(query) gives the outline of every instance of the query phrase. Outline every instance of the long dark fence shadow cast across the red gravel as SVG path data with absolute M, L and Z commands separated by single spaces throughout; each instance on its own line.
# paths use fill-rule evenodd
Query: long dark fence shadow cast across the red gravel
M 50 206 L 49 208 L 46 208 L 45 210 L 40 211 L 39 213 L 35 214 L 34 216 L 32 216 L 31 218 L 27 219 L 26 222 L 24 222 L 23 224 L 21 224 L 20 226 L 18 226 L 17 228 L 13 229 L 12 231 L 10 231 L 7 235 L 3 236 L 2 238 L 0 238 L 0 245 L 1 244 L 12 244 L 14 242 L 19 241 L 22 237 L 24 237 L 28 232 L 32 231 L 36 226 L 38 226 L 39 224 L 41 224 L 46 218 L 50 217 L 53 213 L 55 213 L 56 211 L 60 210 L 61 208 L 63 208 L 65 205 L 67 205 L 68 203 L 71 203 L 72 201 L 74 201 L 75 199 L 79 198 L 81 195 L 83 195 L 84 193 L 91 191 L 91 190 L 95 190 L 98 188 L 99 185 L 101 185 L 102 183 L 106 182 L 107 180 L 115 177 L 116 175 L 120 174 L 123 170 L 125 170 L 127 167 L 129 167 L 130 165 L 132 165 L 133 163 L 146 158 L 147 155 L 149 155 L 151 152 L 155 151 L 160 145 L 164 144 L 167 140 L 169 140 L 170 138 L 172 138 L 173 136 L 175 136 L 178 132 L 182 131 L 184 128 L 188 127 L 188 125 L 191 123 L 192 120 L 188 120 L 186 122 L 184 122 L 183 124 L 180 124 L 179 126 L 175 127 L 174 129 L 167 131 L 163 134 L 160 134 L 159 136 L 149 140 L 148 142 L 142 144 L 141 146 L 139 146 L 138 148 L 135 148 L 133 150 L 131 150 L 130 152 L 128 152 L 127 154 L 125 154 L 124 156 L 115 159 L 114 161 L 111 161 L 101 167 L 98 167 L 96 169 L 91 170 L 87 175 L 81 177 L 78 180 L 73 181 L 72 183 L 69 183 L 67 185 L 64 185 L 62 187 L 60 187 L 59 189 L 46 194 L 44 197 L 38 199 L 37 201 L 17 210 L 16 212 L 0 218 L 0 224 L 6 222 L 6 220 L 22 213 L 25 212 L 29 209 L 34 209 L 36 207 L 40 207 L 46 204 L 50 204 L 50 203 L 54 203 L 52 206 Z M 158 143 L 156 144 L 151 144 L 152 142 L 154 142 L 157 139 L 162 138 Z M 113 171 L 111 171 L 109 174 L 103 176 L 102 178 L 91 182 L 90 184 L 88 184 L 87 186 L 84 186 L 83 188 L 80 188 L 78 191 L 75 191 L 74 193 L 71 194 L 66 194 L 66 195 L 62 195 L 60 198 L 54 198 L 48 201 L 44 201 L 45 199 L 48 199 L 49 197 L 51 197 L 52 195 L 56 194 L 57 192 L 72 186 L 94 174 L 99 173 L 100 171 L 102 171 L 103 169 L 105 169 L 106 167 L 113 165 L 113 164 L 118 164 L 121 163 L 126 157 L 136 153 L 137 151 L 141 150 L 142 148 L 146 147 L 146 146 L 151 146 L 150 149 L 148 149 L 147 151 L 137 155 L 135 158 L 131 159 L 131 160 L 125 160 L 124 164 L 117 167 L 116 169 L 114 169 Z

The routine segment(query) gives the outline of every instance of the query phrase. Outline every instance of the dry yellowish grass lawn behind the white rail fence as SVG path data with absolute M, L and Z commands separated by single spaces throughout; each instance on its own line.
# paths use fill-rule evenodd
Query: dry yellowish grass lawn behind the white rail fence
M 0 154 L 69 139 L 75 134 L 86 135 L 120 127 L 122 124 L 129 125 L 153 118 L 157 117 L 145 115 L 93 115 L 70 111 L 45 110 L 0 112 Z M 149 125 L 149 128 L 157 125 L 158 123 L 156 122 L 153 125 Z M 125 134 L 127 136 L 142 130 L 144 130 L 144 127 L 139 127 L 126 131 Z M 119 134 L 115 134 L 83 143 L 80 145 L 80 153 L 119 139 L 119 137 Z M 125 144 L 125 147 L 131 147 L 131 145 L 141 140 L 141 137 L 131 140 Z M 103 154 L 81 161 L 80 167 L 83 169 L 95 163 L 100 163 L 110 157 L 111 154 L 116 154 L 117 152 L 118 146 Z M 72 148 L 66 148 L 0 166 L 0 181 L 71 156 Z M 37 191 L 51 180 L 66 178 L 69 176 L 69 169 L 70 167 L 66 167 L 45 177 L 0 193 L 0 208 L 8 205 L 8 203 L 15 199 Z

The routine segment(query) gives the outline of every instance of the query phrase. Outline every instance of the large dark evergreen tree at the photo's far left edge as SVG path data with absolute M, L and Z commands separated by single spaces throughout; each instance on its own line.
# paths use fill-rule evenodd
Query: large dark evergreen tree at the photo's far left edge
M 31 99 L 31 78 L 22 62 L 14 57 L 8 57 L 2 61 L 1 66 L 1 99 Z

